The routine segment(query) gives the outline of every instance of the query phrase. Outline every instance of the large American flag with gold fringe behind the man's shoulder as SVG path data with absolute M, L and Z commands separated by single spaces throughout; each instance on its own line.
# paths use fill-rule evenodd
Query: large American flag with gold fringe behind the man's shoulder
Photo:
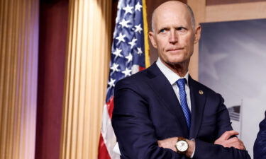
M 144 30 L 146 31 L 147 25 L 143 20 L 143 17 L 145 18 L 143 13 L 145 13 L 144 0 L 118 1 L 106 104 L 104 105 L 99 141 L 99 159 L 120 158 L 118 153 L 113 152 L 113 147 L 116 145 L 116 136 L 111 126 L 113 90 L 117 81 L 145 69 L 145 50 L 147 52 L 148 45 L 145 45 L 147 35 Z M 146 63 L 147 61 L 146 57 Z

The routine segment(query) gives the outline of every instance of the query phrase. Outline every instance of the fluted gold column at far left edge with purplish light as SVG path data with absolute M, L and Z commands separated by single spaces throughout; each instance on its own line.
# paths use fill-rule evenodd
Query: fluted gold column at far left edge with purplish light
M 0 0 L 0 158 L 33 159 L 38 0 Z

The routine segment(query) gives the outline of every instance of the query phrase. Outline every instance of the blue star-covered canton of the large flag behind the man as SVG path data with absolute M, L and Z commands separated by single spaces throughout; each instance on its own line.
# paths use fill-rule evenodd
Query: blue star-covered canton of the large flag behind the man
M 117 81 L 145 68 L 144 50 L 142 1 L 119 0 L 106 102 Z

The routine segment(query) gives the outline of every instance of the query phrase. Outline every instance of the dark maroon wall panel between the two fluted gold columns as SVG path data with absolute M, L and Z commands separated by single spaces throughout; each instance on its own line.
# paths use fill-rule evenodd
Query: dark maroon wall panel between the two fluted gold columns
M 58 159 L 60 155 L 67 20 L 67 0 L 40 1 L 35 159 Z

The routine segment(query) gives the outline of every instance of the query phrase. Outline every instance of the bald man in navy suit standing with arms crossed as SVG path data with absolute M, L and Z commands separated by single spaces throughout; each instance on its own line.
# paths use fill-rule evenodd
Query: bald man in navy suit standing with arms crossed
M 188 73 L 201 27 L 187 4 L 153 12 L 150 40 L 159 58 L 116 83 L 112 125 L 121 158 L 250 158 L 233 131 L 223 98 Z

